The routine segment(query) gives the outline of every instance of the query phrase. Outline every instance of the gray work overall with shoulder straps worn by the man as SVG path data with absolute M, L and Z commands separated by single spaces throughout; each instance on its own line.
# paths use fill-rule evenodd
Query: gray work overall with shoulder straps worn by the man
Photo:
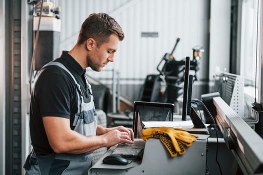
M 91 101 L 84 102 L 84 96 L 80 88 L 80 84 L 76 81 L 72 73 L 60 62 L 50 62 L 49 65 L 57 65 L 67 71 L 73 78 L 77 87 L 78 110 L 73 121 L 74 130 L 83 135 L 96 135 L 97 113 L 93 102 L 91 85 L 86 77 L 87 90 L 89 90 Z M 25 162 L 25 174 L 88 174 L 89 168 L 92 166 L 92 152 L 81 154 L 68 153 L 52 153 L 49 155 L 36 155 L 32 151 Z

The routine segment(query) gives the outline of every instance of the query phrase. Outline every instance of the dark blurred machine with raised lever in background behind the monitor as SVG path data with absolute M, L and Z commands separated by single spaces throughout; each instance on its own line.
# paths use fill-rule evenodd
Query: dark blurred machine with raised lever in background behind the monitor
M 147 75 L 141 92 L 141 101 L 174 103 L 182 95 L 185 59 L 176 60 L 173 52 L 180 38 L 176 39 L 170 53 L 165 53 L 157 65 L 159 74 Z M 196 72 L 199 70 L 201 47 L 193 48 L 193 59 L 190 60 L 190 70 L 194 71 L 193 81 L 197 80 Z

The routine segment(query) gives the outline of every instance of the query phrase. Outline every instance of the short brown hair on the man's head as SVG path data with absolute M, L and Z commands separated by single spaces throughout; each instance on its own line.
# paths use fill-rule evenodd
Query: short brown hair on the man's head
M 100 46 L 109 40 L 109 36 L 116 33 L 120 40 L 124 32 L 118 22 L 106 13 L 92 13 L 82 23 L 77 44 L 84 43 L 88 38 L 94 38 Z

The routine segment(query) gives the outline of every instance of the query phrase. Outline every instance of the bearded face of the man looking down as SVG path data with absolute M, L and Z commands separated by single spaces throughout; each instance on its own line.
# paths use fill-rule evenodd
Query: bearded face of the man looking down
M 119 47 L 120 39 L 113 33 L 108 42 L 104 42 L 99 47 L 95 44 L 94 49 L 87 55 L 87 64 L 95 71 L 101 71 L 108 62 L 114 61 L 114 54 Z

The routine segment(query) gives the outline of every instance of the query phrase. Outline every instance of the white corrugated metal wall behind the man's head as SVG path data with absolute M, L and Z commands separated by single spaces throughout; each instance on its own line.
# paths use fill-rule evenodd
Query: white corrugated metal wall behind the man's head
M 56 0 L 61 6 L 61 49 L 70 49 L 77 40 L 80 26 L 88 14 L 107 12 L 122 26 L 125 39 L 116 53 L 115 62 L 105 69 L 120 71 L 122 84 L 142 83 L 147 74 L 158 74 L 156 66 L 166 52 L 176 59 L 192 57 L 192 47 L 202 45 L 200 79 L 208 78 L 207 0 Z M 141 37 L 141 32 L 158 32 L 158 37 Z M 105 72 L 89 72 L 94 77 L 111 78 Z

